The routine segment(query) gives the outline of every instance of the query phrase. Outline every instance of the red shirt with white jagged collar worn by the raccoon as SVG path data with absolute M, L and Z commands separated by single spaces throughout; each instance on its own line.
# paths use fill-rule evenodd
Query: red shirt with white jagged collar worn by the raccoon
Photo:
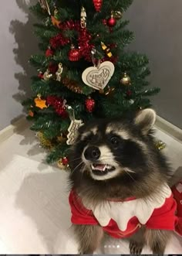
M 142 225 L 149 229 L 175 230 L 179 226 L 179 218 L 175 215 L 177 203 L 170 188 L 165 186 L 165 189 L 161 196 L 157 194 L 156 200 L 108 201 L 106 207 L 102 205 L 97 208 L 84 206 L 76 191 L 72 190 L 69 194 L 72 224 L 99 224 L 115 238 L 129 237 Z M 177 232 L 182 235 L 179 228 Z

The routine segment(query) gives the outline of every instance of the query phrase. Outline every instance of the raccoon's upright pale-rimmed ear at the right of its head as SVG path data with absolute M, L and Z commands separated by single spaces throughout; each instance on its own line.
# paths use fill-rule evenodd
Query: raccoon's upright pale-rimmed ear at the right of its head
M 147 135 L 156 121 L 156 112 L 151 108 L 143 109 L 134 119 L 135 125 L 139 126 L 143 135 Z

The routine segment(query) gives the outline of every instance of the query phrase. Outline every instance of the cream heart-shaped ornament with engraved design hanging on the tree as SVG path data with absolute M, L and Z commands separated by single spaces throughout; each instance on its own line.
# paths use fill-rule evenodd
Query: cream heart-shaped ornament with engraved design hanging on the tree
M 88 67 L 83 71 L 83 83 L 96 90 L 103 90 L 113 76 L 114 69 L 110 61 L 104 61 L 99 67 Z

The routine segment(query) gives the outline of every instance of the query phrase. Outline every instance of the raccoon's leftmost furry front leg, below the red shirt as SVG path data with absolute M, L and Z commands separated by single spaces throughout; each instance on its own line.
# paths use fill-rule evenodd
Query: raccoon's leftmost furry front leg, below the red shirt
M 103 228 L 97 225 L 73 225 L 79 242 L 79 254 L 93 254 L 103 238 Z

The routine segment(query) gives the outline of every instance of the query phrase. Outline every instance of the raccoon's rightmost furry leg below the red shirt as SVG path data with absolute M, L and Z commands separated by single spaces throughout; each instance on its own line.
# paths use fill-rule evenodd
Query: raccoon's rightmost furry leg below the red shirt
M 164 254 L 167 242 L 170 240 L 172 231 L 170 230 L 147 230 L 147 244 L 153 251 L 153 254 Z

